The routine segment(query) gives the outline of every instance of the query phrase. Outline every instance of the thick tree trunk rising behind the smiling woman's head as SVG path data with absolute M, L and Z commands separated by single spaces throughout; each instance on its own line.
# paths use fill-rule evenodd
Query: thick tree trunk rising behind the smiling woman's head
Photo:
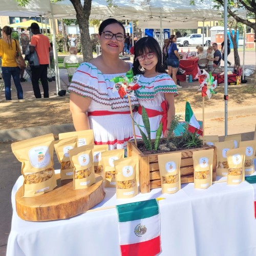
M 89 16 L 91 14 L 92 0 L 84 0 L 83 6 L 80 0 L 70 0 L 76 11 L 76 18 L 81 34 L 82 55 L 84 61 L 93 58 L 92 44 L 89 33 Z

